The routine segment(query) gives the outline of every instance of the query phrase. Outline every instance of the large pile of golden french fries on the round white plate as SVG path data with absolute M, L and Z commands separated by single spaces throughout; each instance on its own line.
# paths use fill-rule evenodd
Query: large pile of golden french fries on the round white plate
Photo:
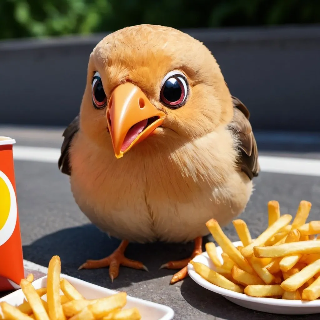
M 251 238 L 246 223 L 233 221 L 243 246 L 235 247 L 214 219 L 206 223 L 220 245 L 223 263 L 214 243 L 206 251 L 215 271 L 190 261 L 205 280 L 225 289 L 253 297 L 316 300 L 320 297 L 320 221 L 306 223 L 311 203 L 301 201 L 292 223 L 290 214 L 280 215 L 277 201 L 268 202 L 268 228 Z

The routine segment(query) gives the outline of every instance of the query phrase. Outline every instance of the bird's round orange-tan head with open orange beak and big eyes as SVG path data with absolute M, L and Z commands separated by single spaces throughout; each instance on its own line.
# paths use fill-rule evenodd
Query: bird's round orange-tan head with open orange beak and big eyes
M 99 145 L 112 143 L 117 158 L 145 139 L 200 138 L 232 116 L 216 60 L 181 31 L 124 28 L 106 36 L 90 55 L 80 126 Z

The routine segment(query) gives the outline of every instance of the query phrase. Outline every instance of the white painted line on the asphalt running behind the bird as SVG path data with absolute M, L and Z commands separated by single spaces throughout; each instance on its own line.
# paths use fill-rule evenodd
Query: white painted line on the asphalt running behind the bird
M 58 148 L 13 147 L 14 160 L 57 164 L 59 156 Z M 320 160 L 317 159 L 259 156 L 259 163 L 262 172 L 320 176 Z

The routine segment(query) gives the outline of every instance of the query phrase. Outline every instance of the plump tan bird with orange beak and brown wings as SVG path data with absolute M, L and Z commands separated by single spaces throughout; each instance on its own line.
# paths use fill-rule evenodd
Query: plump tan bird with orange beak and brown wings
M 130 243 L 187 243 L 191 257 L 164 263 L 188 276 L 205 222 L 228 225 L 245 209 L 260 172 L 246 106 L 231 95 L 212 52 L 172 27 L 141 24 L 92 50 L 78 115 L 63 132 L 59 170 L 80 210 L 118 240 L 84 269 L 147 270 L 125 257 Z M 165 261 L 164 261 L 165 262 Z

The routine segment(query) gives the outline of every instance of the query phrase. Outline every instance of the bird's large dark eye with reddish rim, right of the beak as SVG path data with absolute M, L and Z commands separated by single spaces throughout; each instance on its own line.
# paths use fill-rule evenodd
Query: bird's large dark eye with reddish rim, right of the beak
M 161 101 L 171 108 L 181 107 L 187 98 L 187 80 L 180 74 L 167 75 L 160 92 Z

